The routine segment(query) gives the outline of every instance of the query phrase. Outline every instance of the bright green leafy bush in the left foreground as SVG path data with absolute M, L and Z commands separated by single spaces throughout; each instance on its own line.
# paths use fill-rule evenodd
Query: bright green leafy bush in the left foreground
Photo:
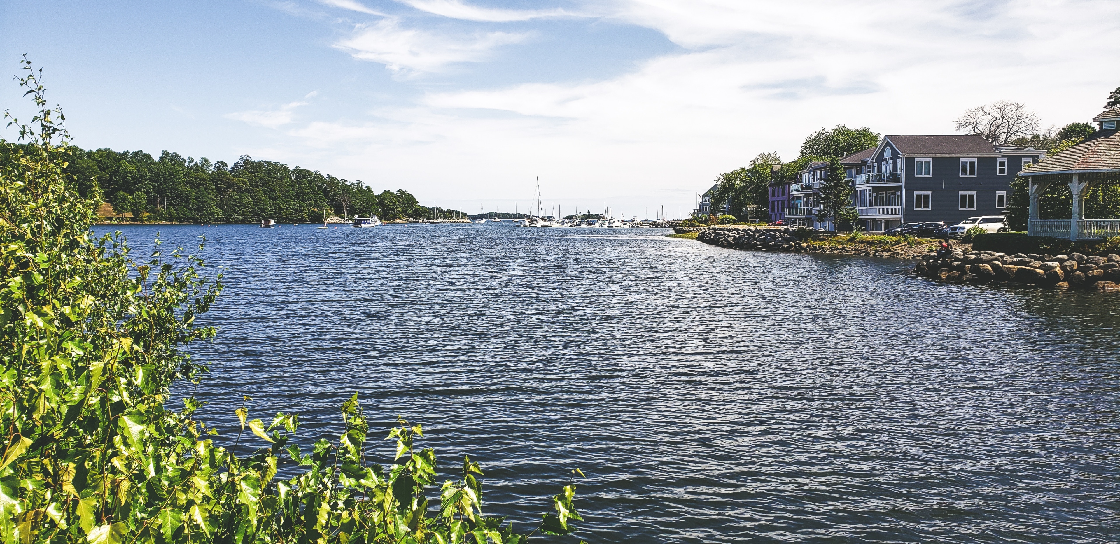
M 26 142 L 0 140 L 4 544 L 528 538 L 483 515 L 482 470 L 468 458 L 457 479 L 428 497 L 437 459 L 416 447 L 420 425 L 400 420 L 389 433 L 393 463 L 367 463 L 371 430 L 357 395 L 342 405 L 337 442 L 319 440 L 306 454 L 289 443 L 296 415 L 264 423 L 242 405 L 233 411 L 240 431 L 224 448 L 214 441 L 216 428 L 195 418 L 197 401 L 168 407 L 171 383 L 205 371 L 181 349 L 214 336 L 195 319 L 218 297 L 221 275 L 199 275 L 203 261 L 181 248 L 157 244 L 141 260 L 119 235 L 95 238 L 99 190 L 83 198 L 65 173 L 72 148 L 62 113 L 46 105 L 35 72 L 20 83 L 38 106 L 38 128 L 12 119 Z M 235 452 L 243 434 L 261 445 L 252 454 Z M 278 480 L 281 458 L 299 473 Z M 572 533 L 581 519 L 575 493 L 569 480 L 533 533 Z

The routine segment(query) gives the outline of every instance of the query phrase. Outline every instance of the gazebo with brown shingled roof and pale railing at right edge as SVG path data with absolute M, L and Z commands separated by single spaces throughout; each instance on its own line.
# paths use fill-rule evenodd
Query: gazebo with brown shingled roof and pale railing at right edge
M 1085 141 L 1042 162 L 1023 170 L 1030 189 L 1030 213 L 1027 234 L 1070 240 L 1107 238 L 1120 236 L 1120 219 L 1086 219 L 1085 196 L 1093 186 L 1120 181 L 1120 107 L 1105 110 L 1093 118 L 1099 131 Z M 1073 195 L 1073 215 L 1070 219 L 1039 219 L 1038 197 L 1054 182 L 1070 186 Z

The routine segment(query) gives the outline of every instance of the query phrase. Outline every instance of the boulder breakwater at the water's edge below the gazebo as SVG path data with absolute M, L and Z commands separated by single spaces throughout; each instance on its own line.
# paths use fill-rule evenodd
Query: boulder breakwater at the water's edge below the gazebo
M 930 253 L 914 273 L 937 281 L 1088 289 L 1120 293 L 1120 255 L 1037 255 L 996 252 Z

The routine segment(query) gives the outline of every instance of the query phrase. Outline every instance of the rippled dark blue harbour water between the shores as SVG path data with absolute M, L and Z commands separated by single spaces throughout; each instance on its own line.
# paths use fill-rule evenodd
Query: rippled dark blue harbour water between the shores
M 309 443 L 356 391 L 523 528 L 578 467 L 589 543 L 1120 540 L 1120 297 L 661 229 L 156 231 L 227 269 L 207 421 Z

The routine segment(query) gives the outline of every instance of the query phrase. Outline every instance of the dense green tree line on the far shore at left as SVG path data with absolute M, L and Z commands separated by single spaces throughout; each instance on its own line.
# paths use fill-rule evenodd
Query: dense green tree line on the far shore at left
M 301 167 L 243 156 L 232 166 L 195 160 L 164 151 L 159 158 L 143 151 L 74 148 L 66 173 L 82 194 L 97 187 L 112 212 L 133 221 L 175 223 L 255 223 L 262 218 L 311 223 L 326 215 L 376 214 L 382 219 L 465 215 L 458 210 L 421 206 L 404 189 L 374 191 Z

